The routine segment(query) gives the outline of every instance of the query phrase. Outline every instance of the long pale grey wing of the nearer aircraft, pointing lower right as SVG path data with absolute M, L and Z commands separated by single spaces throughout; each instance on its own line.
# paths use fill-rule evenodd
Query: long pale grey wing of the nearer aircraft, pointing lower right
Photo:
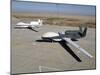
M 62 34 L 59 33 L 59 36 L 65 40 L 67 43 L 69 43 L 70 45 L 76 47 L 77 49 L 79 49 L 80 51 L 82 51 L 85 55 L 89 56 L 90 58 L 92 58 L 93 56 L 91 54 L 89 54 L 85 49 L 81 48 L 79 45 L 77 45 L 76 43 L 74 43 L 70 38 L 66 38 L 66 37 L 62 37 Z

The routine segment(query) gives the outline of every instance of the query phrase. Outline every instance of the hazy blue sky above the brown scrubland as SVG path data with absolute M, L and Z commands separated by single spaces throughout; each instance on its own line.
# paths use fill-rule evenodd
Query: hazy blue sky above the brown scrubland
M 12 1 L 12 11 L 95 16 L 96 7 L 91 5 Z

